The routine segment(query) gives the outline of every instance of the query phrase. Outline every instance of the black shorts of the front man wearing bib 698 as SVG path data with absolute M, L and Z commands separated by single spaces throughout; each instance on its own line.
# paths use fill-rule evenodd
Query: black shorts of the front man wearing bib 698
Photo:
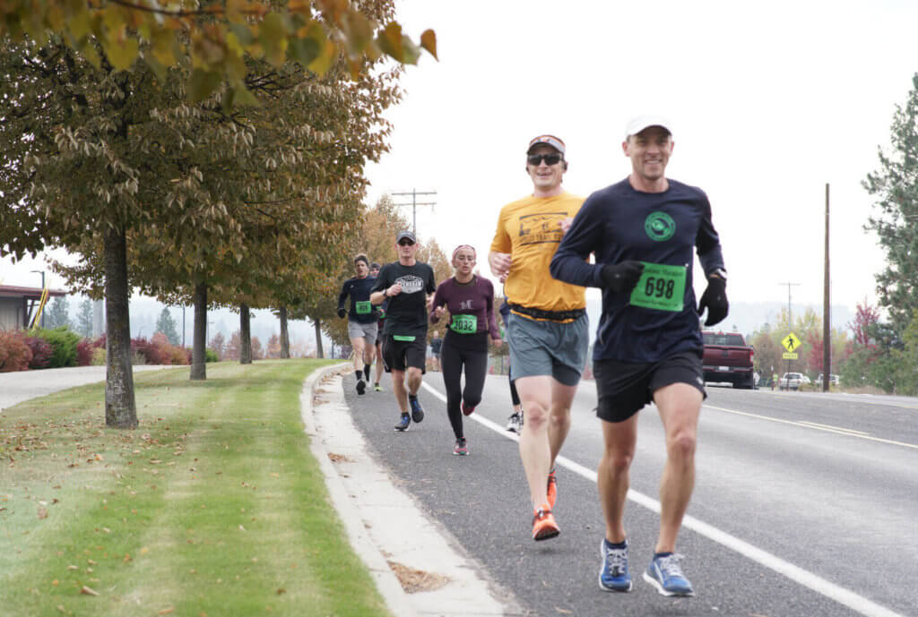
M 701 357 L 693 351 L 650 364 L 596 360 L 593 375 L 599 399 L 596 415 L 606 422 L 624 422 L 653 402 L 655 391 L 673 383 L 688 383 L 708 398 Z

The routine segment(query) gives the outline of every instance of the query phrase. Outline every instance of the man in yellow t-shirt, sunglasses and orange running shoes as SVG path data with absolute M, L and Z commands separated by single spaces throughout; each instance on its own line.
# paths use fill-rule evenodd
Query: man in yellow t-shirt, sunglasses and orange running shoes
M 491 243 L 491 271 L 510 306 L 510 367 L 526 410 L 520 457 L 532 500 L 532 539 L 560 533 L 554 459 L 570 430 L 570 408 L 587 358 L 587 299 L 582 287 L 555 281 L 548 265 L 583 199 L 561 186 L 565 143 L 552 135 L 526 150 L 529 197 L 505 205 Z

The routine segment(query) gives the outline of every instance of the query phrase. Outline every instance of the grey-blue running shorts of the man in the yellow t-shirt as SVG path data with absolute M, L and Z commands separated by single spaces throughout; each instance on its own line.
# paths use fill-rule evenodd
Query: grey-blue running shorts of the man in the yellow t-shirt
M 513 379 L 549 375 L 565 386 L 576 386 L 587 362 L 589 318 L 569 324 L 536 321 L 511 313 L 507 323 Z

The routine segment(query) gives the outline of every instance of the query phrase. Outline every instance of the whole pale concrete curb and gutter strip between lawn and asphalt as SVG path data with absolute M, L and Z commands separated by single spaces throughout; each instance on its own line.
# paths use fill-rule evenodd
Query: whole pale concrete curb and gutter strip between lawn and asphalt
M 521 610 L 447 530 L 431 522 L 367 454 L 344 402 L 342 364 L 316 371 L 300 394 L 312 453 L 354 551 L 398 617 L 498 617 Z

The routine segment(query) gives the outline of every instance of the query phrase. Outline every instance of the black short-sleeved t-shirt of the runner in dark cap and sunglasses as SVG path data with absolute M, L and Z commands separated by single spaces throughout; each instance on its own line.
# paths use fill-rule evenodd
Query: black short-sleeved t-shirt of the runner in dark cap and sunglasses
M 427 336 L 427 295 L 437 290 L 433 269 L 420 261 L 413 266 L 387 263 L 379 270 L 372 292 L 385 292 L 396 283 L 402 291 L 388 299 L 384 334 Z

